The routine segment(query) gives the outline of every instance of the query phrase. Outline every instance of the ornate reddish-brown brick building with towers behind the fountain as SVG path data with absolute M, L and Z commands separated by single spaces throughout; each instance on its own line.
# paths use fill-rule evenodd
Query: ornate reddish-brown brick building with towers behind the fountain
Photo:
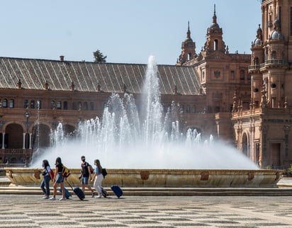
M 251 55 L 229 52 L 215 7 L 200 52 L 188 24 L 176 65 L 157 66 L 162 105 L 176 104 L 182 132 L 212 134 L 262 168 L 292 164 L 291 18 L 292 0 L 263 0 Z M 101 118 L 111 93 L 139 101 L 146 68 L 0 57 L 0 162 L 29 162 L 59 122 L 74 134 L 80 120 Z

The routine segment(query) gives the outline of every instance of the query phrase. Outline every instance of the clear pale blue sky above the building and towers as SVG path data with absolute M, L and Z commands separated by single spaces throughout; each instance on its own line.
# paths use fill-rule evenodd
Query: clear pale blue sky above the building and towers
M 190 21 L 200 52 L 216 4 L 230 52 L 250 53 L 261 20 L 260 0 L 9 0 L 0 8 L 0 56 L 175 64 Z

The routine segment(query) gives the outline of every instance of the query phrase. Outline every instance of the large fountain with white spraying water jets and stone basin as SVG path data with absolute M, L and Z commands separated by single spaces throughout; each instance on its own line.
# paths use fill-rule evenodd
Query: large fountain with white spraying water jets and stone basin
M 29 169 L 6 169 L 11 182 L 38 184 L 41 161 L 50 164 L 60 156 L 72 167 L 70 181 L 79 183 L 80 156 L 93 164 L 100 159 L 109 175 L 103 184 L 126 187 L 274 187 L 281 173 L 260 170 L 246 156 L 214 142 L 212 135 L 202 139 L 196 129 L 183 134 L 177 106 L 164 114 L 160 102 L 155 58 L 148 61 L 145 84 L 135 105 L 132 94 L 123 98 L 113 93 L 103 118 L 79 122 L 74 136 L 64 136 L 62 123 L 52 132 L 52 147 L 33 159 Z M 24 178 L 29 176 L 29 178 Z

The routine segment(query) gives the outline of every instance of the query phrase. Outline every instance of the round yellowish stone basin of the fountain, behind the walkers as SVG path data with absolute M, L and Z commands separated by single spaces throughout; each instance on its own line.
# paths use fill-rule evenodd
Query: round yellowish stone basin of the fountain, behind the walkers
M 6 168 L 11 186 L 39 186 L 42 169 Z M 69 183 L 80 186 L 80 169 L 70 169 Z M 283 171 L 271 169 L 107 169 L 103 186 L 125 188 L 277 188 Z M 93 185 L 93 183 L 91 184 Z

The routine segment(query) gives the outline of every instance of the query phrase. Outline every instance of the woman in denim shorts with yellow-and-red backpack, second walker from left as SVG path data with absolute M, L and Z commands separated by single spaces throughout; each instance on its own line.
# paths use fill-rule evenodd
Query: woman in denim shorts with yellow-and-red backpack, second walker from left
M 59 186 L 59 185 L 60 185 L 60 187 L 62 189 L 62 198 L 60 198 L 60 200 L 66 200 L 65 189 L 64 189 L 64 177 L 62 176 L 63 164 L 62 164 L 62 160 L 61 160 L 61 158 L 59 156 L 56 159 L 55 166 L 56 166 L 55 176 L 54 176 L 54 179 L 53 179 L 54 193 L 53 193 L 52 197 L 50 198 L 50 200 L 56 200 L 57 186 Z

